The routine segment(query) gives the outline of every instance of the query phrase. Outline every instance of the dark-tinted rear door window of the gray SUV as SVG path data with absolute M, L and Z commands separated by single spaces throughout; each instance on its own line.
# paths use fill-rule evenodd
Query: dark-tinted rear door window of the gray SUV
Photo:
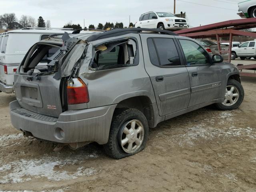
M 148 50 L 152 64 L 159 66 L 179 66 L 180 57 L 175 46 L 174 40 L 170 38 L 153 38 L 152 39 L 156 54 L 158 56 L 158 63 L 155 60 L 154 48 L 152 42 L 148 39 Z

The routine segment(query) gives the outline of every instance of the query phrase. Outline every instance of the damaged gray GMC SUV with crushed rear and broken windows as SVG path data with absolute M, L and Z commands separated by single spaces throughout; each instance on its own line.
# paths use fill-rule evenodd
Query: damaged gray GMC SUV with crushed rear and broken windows
M 159 122 L 210 104 L 232 110 L 244 98 L 238 69 L 220 55 L 142 28 L 34 44 L 16 72 L 15 92 L 11 120 L 25 136 L 72 149 L 97 142 L 117 159 L 143 150 Z

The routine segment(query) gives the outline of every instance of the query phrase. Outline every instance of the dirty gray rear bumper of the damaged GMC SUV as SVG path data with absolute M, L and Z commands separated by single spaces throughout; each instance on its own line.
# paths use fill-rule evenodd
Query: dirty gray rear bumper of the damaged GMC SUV
M 70 110 L 60 114 L 55 122 L 31 118 L 34 112 L 17 113 L 22 109 L 18 101 L 10 103 L 12 125 L 22 131 L 28 131 L 36 138 L 59 143 L 76 143 L 93 141 L 106 144 L 112 115 L 116 105 L 104 106 L 85 110 Z M 30 114 L 33 114 L 30 116 Z M 49 117 L 49 119 L 52 119 Z M 61 133 L 60 133 L 60 130 Z

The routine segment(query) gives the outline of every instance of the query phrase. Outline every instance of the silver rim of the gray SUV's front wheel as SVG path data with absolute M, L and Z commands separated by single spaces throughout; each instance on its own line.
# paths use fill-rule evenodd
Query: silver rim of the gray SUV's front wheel
M 226 87 L 225 100 L 222 104 L 225 106 L 232 106 L 236 104 L 239 98 L 238 89 L 235 86 L 228 85 Z

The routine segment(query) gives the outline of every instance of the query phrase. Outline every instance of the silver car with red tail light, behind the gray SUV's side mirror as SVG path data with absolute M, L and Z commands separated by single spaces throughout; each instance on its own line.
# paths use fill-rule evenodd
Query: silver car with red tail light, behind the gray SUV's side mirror
M 218 51 L 218 44 L 215 42 L 212 42 L 210 40 L 196 40 L 200 45 L 202 45 L 210 54 L 216 55 L 220 54 Z M 227 45 L 220 45 L 220 50 L 228 52 L 228 46 Z M 228 53 L 221 54 L 223 59 L 228 59 Z

